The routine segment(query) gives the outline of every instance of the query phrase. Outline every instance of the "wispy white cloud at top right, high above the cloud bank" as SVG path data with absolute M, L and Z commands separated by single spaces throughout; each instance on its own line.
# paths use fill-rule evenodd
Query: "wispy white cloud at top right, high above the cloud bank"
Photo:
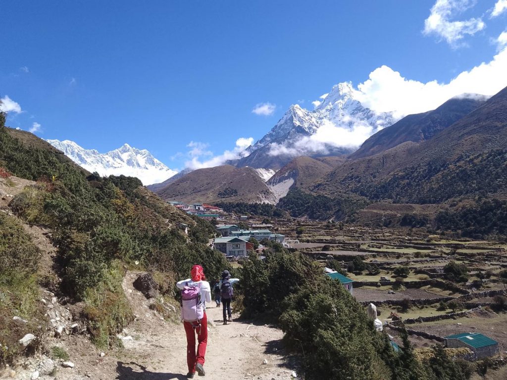
M 452 47 L 457 47 L 457 42 L 462 40 L 465 34 L 474 35 L 486 26 L 481 18 L 450 21 L 455 14 L 472 8 L 476 3 L 476 0 L 437 0 L 429 17 L 424 20 L 424 34 L 437 34 Z

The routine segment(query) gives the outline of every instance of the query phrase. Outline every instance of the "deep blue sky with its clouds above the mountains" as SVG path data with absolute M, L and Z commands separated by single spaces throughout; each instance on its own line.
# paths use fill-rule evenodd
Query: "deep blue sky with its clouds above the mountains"
M 178 169 L 339 82 L 403 114 L 507 86 L 506 0 L 16 1 L 0 18 L 8 125 Z

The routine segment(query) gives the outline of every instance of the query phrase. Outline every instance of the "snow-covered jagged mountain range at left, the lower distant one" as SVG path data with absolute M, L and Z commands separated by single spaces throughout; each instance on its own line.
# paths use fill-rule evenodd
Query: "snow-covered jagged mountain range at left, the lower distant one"
M 149 185 L 162 182 L 177 173 L 153 157 L 148 150 L 137 149 L 129 144 L 101 154 L 95 149 L 84 149 L 74 141 L 47 141 L 79 166 L 101 176 L 137 177 L 143 184 Z

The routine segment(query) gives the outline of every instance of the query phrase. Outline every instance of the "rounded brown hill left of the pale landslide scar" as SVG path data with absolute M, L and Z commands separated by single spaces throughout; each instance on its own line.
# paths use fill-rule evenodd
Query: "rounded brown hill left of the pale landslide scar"
M 231 165 L 194 170 L 157 194 L 186 203 L 273 202 L 269 187 L 255 170 Z

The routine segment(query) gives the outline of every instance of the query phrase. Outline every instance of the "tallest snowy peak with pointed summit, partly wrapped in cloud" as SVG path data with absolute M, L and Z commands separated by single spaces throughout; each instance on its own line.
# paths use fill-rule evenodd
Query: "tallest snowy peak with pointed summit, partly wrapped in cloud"
M 298 156 L 322 156 L 351 153 L 355 148 L 340 141 L 313 141 L 322 126 L 333 125 L 353 130 L 366 127 L 372 133 L 395 122 L 392 113 L 377 113 L 354 98 L 351 83 L 333 87 L 312 111 L 298 104 L 291 105 L 278 123 L 262 139 L 248 147 L 248 156 L 236 166 L 280 169 Z M 313 143 L 307 143 L 307 139 Z M 360 143 L 360 142 L 359 142 Z

